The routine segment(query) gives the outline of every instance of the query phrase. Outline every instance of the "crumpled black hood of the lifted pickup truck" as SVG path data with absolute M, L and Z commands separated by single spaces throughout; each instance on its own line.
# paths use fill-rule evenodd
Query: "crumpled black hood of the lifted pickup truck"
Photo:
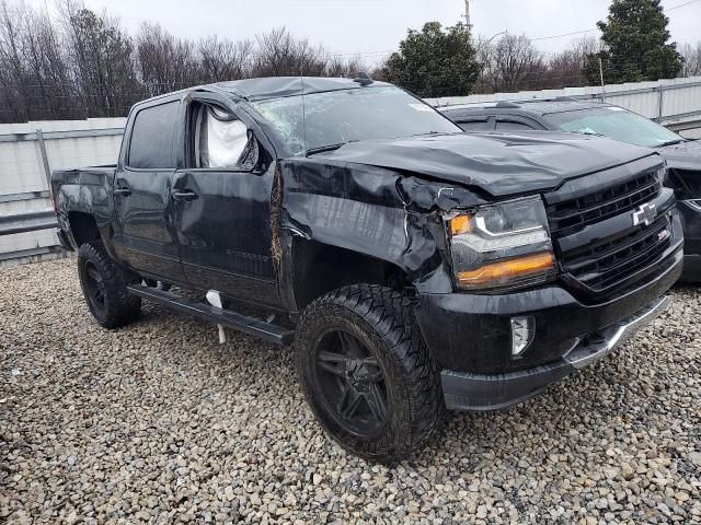
M 565 179 L 650 155 L 655 153 L 600 137 L 525 131 L 365 140 L 323 156 L 430 176 L 476 187 L 492 196 L 506 196 L 554 189 Z

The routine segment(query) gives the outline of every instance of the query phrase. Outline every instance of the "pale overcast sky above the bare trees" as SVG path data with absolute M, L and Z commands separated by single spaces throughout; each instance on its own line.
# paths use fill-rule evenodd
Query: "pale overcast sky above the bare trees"
M 41 0 L 36 0 L 41 1 Z M 666 9 L 690 0 L 663 0 Z M 129 31 L 142 20 L 159 22 L 170 32 L 189 37 L 217 34 L 230 38 L 286 25 L 297 36 L 338 54 L 382 54 L 397 48 L 407 27 L 437 20 L 455 24 L 464 13 L 463 0 L 85 0 L 118 15 Z M 475 34 L 487 37 L 508 30 L 542 38 L 596 27 L 607 15 L 609 0 L 470 0 Z M 701 1 L 668 12 L 676 42 L 701 39 Z M 598 35 L 597 32 L 590 33 Z M 538 40 L 544 51 L 556 51 L 573 36 Z

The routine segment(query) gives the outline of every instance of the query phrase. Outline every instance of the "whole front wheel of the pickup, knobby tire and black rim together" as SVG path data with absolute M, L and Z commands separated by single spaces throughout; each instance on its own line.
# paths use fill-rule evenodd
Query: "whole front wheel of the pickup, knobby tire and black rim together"
M 296 345 L 307 401 L 352 453 L 401 460 L 444 420 L 439 374 L 404 295 L 367 284 L 327 293 L 302 313 Z

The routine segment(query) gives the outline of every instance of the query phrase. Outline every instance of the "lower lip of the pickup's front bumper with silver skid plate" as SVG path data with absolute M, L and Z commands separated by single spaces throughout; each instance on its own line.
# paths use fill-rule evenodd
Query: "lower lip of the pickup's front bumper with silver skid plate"
M 494 375 L 443 371 L 446 406 L 451 410 L 496 410 L 533 397 L 550 383 L 609 354 L 662 314 L 667 304 L 667 296 L 653 301 L 635 314 L 577 340 L 568 353 L 553 363 Z

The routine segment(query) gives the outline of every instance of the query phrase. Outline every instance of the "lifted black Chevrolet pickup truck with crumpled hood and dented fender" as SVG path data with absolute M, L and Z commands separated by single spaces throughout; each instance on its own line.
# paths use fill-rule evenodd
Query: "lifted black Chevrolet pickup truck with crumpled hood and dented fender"
M 393 462 L 446 408 L 527 399 L 664 310 L 664 177 L 647 149 L 466 135 L 386 83 L 277 78 L 137 104 L 117 165 L 57 171 L 53 195 L 101 325 L 146 299 L 295 341 L 327 433 Z

